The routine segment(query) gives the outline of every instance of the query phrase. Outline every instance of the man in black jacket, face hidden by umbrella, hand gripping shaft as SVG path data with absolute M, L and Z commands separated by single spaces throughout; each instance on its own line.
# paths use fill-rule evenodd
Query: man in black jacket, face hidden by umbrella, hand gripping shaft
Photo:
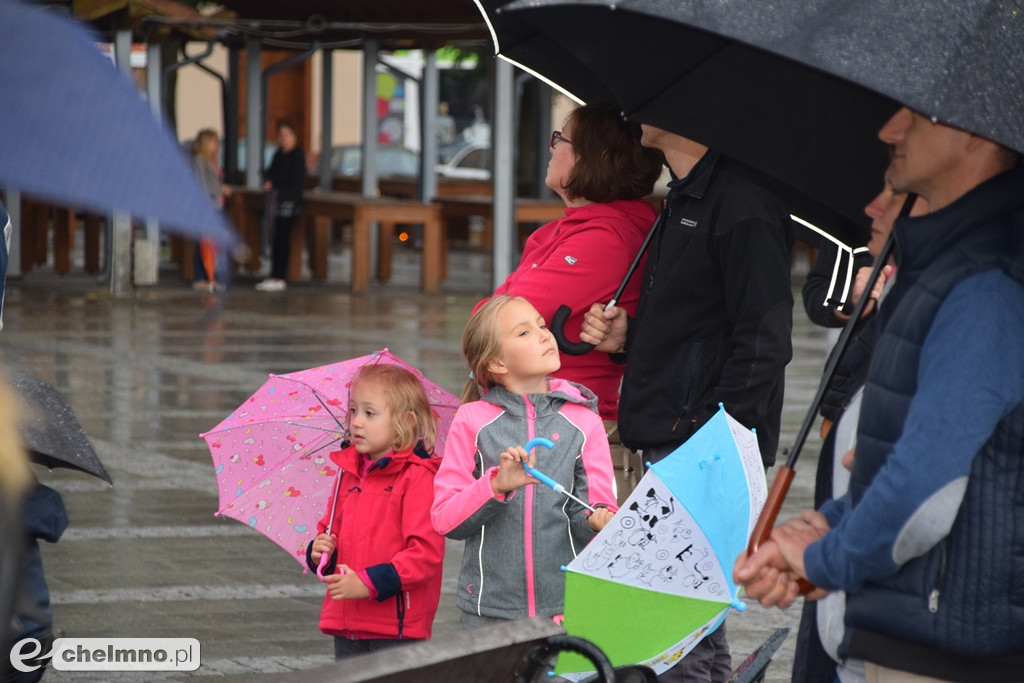
M 644 125 L 675 178 L 651 240 L 637 315 L 594 304 L 581 340 L 623 352 L 623 442 L 657 462 L 721 402 L 757 430 L 775 462 L 785 365 L 793 355 L 790 212 L 772 181 L 714 150 Z M 725 626 L 660 680 L 725 681 Z

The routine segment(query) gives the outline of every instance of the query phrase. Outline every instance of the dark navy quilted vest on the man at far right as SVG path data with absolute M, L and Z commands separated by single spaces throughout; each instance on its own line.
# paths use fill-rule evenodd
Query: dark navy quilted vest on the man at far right
M 877 321 L 881 333 L 865 384 L 850 482 L 854 506 L 900 437 L 916 390 L 922 345 L 946 296 L 964 280 L 993 268 L 1021 282 L 1020 256 L 1015 261 L 1014 250 L 1019 249 L 1015 231 L 1022 229 L 1022 211 L 1024 169 L 1018 168 L 934 214 L 897 221 L 898 275 Z M 905 661 L 913 656 L 911 650 L 922 661 L 931 656 L 928 651 L 954 657 L 1020 655 L 1022 577 L 1024 402 L 999 422 L 975 457 L 949 536 L 895 575 L 868 583 L 848 597 L 841 653 L 867 655 L 916 673 L 924 672 Z M 858 630 L 869 636 L 860 647 Z M 907 643 L 925 647 L 916 650 Z

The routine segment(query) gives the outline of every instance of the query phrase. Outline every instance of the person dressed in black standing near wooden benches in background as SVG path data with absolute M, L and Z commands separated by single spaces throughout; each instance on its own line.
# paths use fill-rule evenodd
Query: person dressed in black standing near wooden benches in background
M 302 212 L 302 191 L 306 182 L 306 157 L 299 145 L 295 126 L 287 119 L 278 122 L 278 151 L 264 173 L 263 189 L 272 191 L 273 234 L 270 242 L 270 276 L 257 283 L 260 292 L 288 289 L 288 261 L 292 251 L 292 230 Z

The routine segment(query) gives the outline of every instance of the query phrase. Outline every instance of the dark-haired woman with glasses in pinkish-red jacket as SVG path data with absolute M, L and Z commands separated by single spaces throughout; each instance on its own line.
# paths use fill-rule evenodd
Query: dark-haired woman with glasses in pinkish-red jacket
M 640 125 L 624 121 L 616 106 L 587 104 L 573 110 L 562 129 L 551 134 L 545 178 L 565 203 L 565 217 L 529 236 L 518 267 L 495 294 L 523 297 L 549 325 L 555 311 L 567 306 L 564 333 L 570 339 L 579 337 L 590 304 L 612 297 L 640 251 L 657 216 L 643 198 L 654 189 L 660 173 L 662 155 L 640 144 Z M 618 297 L 618 305 L 630 315 L 640 298 L 641 271 L 637 269 Z M 563 353 L 561 368 L 554 373 L 597 394 L 617 470 L 620 503 L 633 489 L 640 470 L 639 458 L 631 458 L 618 438 L 624 369 L 609 353 L 592 350 Z

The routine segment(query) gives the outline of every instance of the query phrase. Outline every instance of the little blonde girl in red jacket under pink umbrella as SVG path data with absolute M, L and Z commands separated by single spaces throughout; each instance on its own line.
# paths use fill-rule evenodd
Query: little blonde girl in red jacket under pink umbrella
M 423 385 L 391 365 L 352 381 L 351 445 L 331 454 L 337 501 L 306 551 L 327 584 L 319 629 L 334 656 L 430 637 L 441 591 L 444 538 L 430 522 L 436 425 Z

